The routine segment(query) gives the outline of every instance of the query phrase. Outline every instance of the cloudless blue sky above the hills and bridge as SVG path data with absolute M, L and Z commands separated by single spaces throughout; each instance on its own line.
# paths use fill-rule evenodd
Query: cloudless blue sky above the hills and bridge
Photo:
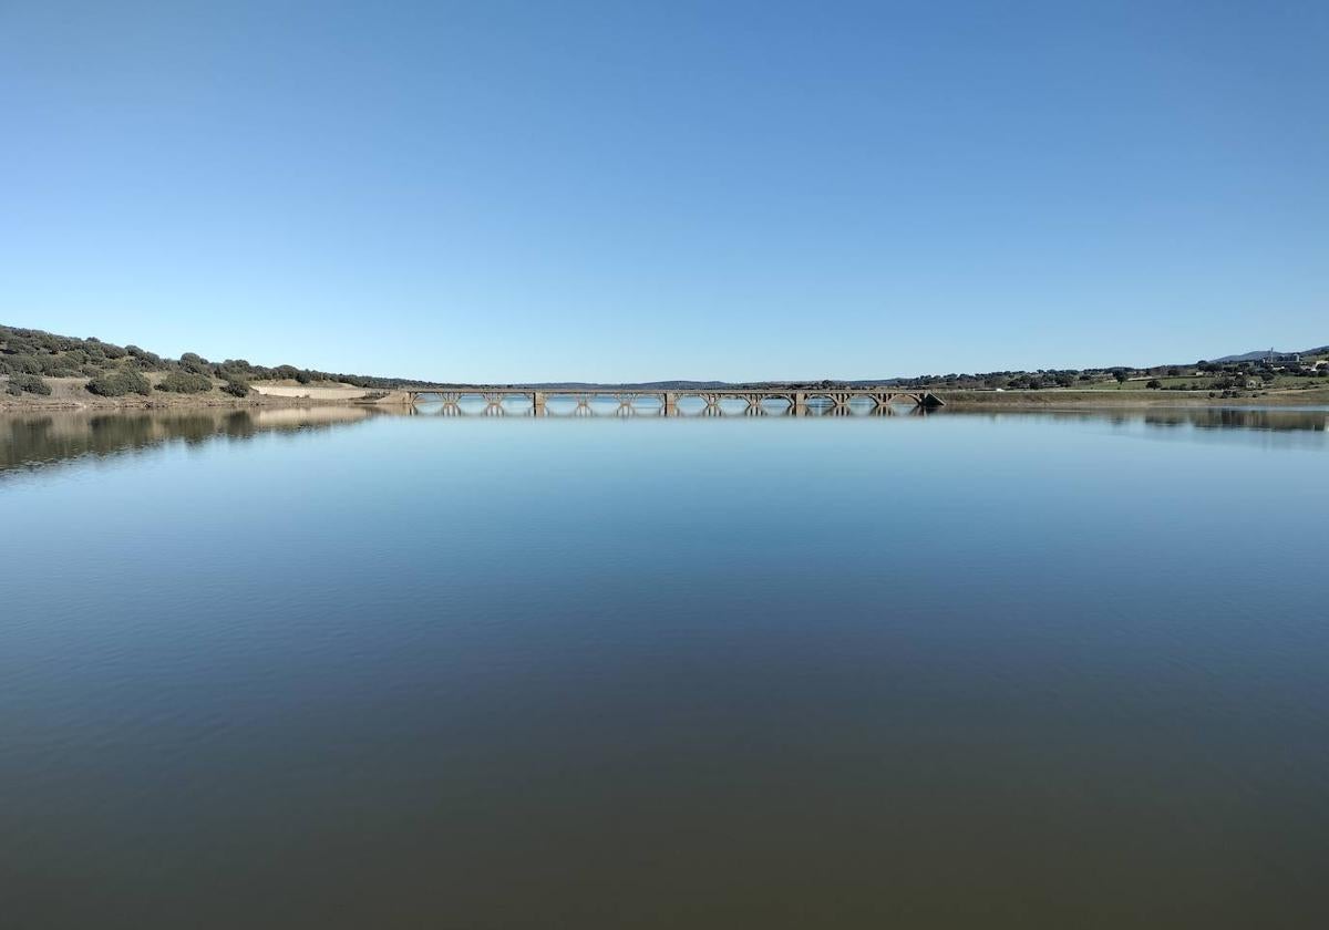
M 0 0 L 0 322 L 500 381 L 1306 348 L 1326 49 L 1324 0 Z

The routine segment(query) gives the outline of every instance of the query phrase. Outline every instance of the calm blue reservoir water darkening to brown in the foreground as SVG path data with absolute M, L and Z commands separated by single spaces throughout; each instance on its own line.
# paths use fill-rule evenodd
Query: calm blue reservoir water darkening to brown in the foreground
M 0 922 L 1324 926 L 1326 417 L 0 418 Z

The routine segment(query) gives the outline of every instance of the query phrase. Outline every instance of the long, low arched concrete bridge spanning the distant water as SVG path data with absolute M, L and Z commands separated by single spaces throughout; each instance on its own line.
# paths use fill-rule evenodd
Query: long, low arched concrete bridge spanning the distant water
M 893 388 L 417 388 L 400 392 L 415 409 L 420 401 L 441 403 L 440 413 L 460 416 L 849 416 L 892 415 L 897 407 L 926 412 L 945 403 L 930 391 Z M 393 397 L 396 397 L 396 392 Z M 480 405 L 482 404 L 482 409 Z M 610 408 L 606 411 L 606 408 Z

